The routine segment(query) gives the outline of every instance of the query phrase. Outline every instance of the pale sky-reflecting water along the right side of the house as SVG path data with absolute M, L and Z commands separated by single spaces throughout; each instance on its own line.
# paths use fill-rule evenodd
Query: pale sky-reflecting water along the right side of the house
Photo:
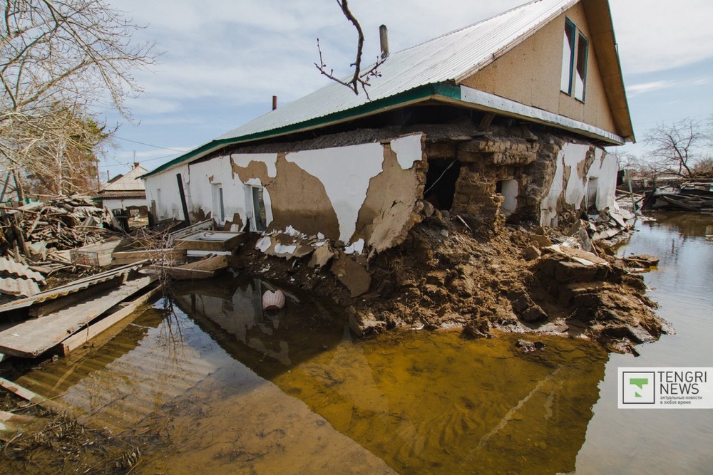
M 602 397 L 594 407 L 578 474 L 709 474 L 713 464 L 710 409 L 616 409 L 617 368 L 630 366 L 713 366 L 713 216 L 652 213 L 656 221 L 637 224 L 638 232 L 620 254 L 652 254 L 661 261 L 644 274 L 657 313 L 675 335 L 637 347 L 640 357 L 611 355 Z

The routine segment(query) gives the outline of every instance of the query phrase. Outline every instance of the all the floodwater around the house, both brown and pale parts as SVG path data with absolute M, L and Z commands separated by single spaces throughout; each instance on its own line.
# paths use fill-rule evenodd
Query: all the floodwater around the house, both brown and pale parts
M 617 367 L 713 366 L 713 218 L 655 216 L 619 252 L 661 258 L 645 281 L 677 334 L 640 357 L 536 335 L 353 340 L 329 304 L 263 313 L 265 284 L 238 277 L 178 288 L 18 382 L 139 447 L 136 474 L 708 474 L 713 409 L 617 409 Z

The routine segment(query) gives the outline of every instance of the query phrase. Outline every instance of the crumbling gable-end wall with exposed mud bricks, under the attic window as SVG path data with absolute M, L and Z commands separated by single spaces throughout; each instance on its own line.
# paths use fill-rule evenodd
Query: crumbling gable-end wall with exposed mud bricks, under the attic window
M 497 233 L 506 214 L 512 222 L 557 226 L 565 210 L 600 210 L 615 199 L 616 157 L 564 137 L 508 127 L 474 140 L 429 143 L 426 155 L 429 164 L 461 164 L 450 211 L 483 236 Z

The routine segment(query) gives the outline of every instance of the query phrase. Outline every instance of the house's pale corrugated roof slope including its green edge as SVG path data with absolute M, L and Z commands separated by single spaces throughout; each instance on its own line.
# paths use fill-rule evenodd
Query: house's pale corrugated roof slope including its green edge
M 309 130 L 325 122 L 349 120 L 432 95 L 459 100 L 460 88 L 448 88 L 448 85 L 455 85 L 488 66 L 579 1 L 530 1 L 418 46 L 391 53 L 379 66 L 380 76 L 369 80 L 368 97 L 363 90 L 355 95 L 344 85 L 330 81 L 324 88 L 230 130 L 143 177 L 237 142 Z M 367 69 L 362 68 L 362 71 Z

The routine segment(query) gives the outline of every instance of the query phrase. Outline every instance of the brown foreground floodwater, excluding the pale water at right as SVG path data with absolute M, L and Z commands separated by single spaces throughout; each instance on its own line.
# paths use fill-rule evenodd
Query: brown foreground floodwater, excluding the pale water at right
M 21 383 L 142 447 L 135 473 L 573 471 L 607 354 L 585 340 L 465 340 L 406 331 L 352 341 L 342 313 L 263 284 L 210 281 L 81 361 Z M 97 363 L 99 362 L 99 363 Z

